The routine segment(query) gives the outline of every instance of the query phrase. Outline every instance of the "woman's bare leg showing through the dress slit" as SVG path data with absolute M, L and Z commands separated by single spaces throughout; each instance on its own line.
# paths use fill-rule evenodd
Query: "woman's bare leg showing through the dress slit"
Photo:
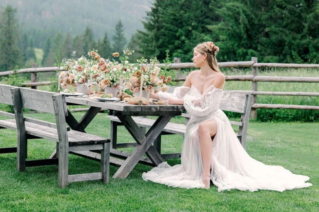
M 200 150 L 203 159 L 203 183 L 205 188 L 210 186 L 210 168 L 211 168 L 211 151 L 212 151 L 212 139 L 217 133 L 216 120 L 204 121 L 198 126 L 199 138 L 200 138 Z

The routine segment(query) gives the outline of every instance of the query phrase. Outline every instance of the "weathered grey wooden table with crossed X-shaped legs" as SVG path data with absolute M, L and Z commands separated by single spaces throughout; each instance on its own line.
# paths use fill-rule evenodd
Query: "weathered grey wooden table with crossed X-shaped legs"
M 68 110 L 66 118 L 72 130 L 85 132 L 85 128 L 90 124 L 93 118 L 99 113 L 100 109 L 108 109 L 109 115 L 118 117 L 125 128 L 129 131 L 132 137 L 137 142 L 132 153 L 119 151 L 111 148 L 111 156 L 126 159 L 125 161 L 117 158 L 110 158 L 110 164 L 119 166 L 120 168 L 114 174 L 113 178 L 126 178 L 138 162 L 158 166 L 164 162 L 160 153 L 152 146 L 155 139 L 159 136 L 161 131 L 167 123 L 174 116 L 180 116 L 184 107 L 182 105 L 132 105 L 127 102 L 100 102 L 94 99 L 84 97 L 65 97 L 67 105 L 87 105 L 89 110 L 78 122 Z M 132 116 L 159 116 L 152 127 L 143 133 L 143 130 L 135 123 Z M 81 153 L 74 152 L 76 155 L 91 158 L 91 152 Z M 95 152 L 92 152 L 93 154 Z M 146 153 L 148 157 L 143 155 Z M 95 153 L 96 154 L 96 153 Z M 93 156 L 94 157 L 94 156 Z

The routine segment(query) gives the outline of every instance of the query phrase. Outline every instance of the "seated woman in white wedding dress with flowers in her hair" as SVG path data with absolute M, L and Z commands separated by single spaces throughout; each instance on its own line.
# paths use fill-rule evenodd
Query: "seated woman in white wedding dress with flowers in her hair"
M 284 191 L 312 186 L 308 176 L 297 175 L 282 166 L 265 165 L 241 146 L 225 113 L 219 109 L 223 96 L 224 74 L 220 73 L 213 42 L 194 48 L 193 61 L 200 70 L 192 71 L 173 94 L 158 92 L 150 97 L 184 105 L 192 116 L 182 147 L 181 164 L 159 164 L 143 173 L 144 180 L 181 188 L 209 188 L 218 191 L 258 189 Z

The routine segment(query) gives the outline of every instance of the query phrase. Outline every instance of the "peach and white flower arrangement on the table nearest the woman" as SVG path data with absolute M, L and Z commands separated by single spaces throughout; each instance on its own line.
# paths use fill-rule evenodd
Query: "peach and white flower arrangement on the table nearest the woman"
M 168 88 L 166 84 L 172 81 L 172 77 L 168 76 L 167 78 L 164 75 L 158 77 L 160 67 L 156 65 L 159 64 L 157 58 L 150 59 L 150 65 L 147 63 L 147 59 L 142 57 L 137 60 L 138 63 L 135 63 L 133 70 L 135 71 L 130 77 L 130 81 L 127 84 L 127 87 L 130 88 L 134 93 L 138 92 L 141 88 L 141 77 L 143 75 L 143 85 L 142 89 L 146 92 L 158 92 L 161 89 L 163 92 L 167 91 Z M 139 65 L 142 64 L 142 66 Z M 145 66 L 143 66 L 145 64 Z

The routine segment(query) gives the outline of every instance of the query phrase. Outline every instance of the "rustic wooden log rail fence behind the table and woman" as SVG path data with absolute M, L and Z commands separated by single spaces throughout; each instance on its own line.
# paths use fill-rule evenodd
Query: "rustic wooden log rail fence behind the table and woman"
M 289 96 L 319 96 L 316 92 L 275 92 L 275 91 L 258 91 L 258 82 L 319 82 L 319 77 L 278 77 L 278 76 L 258 76 L 258 67 L 285 67 L 285 68 L 319 68 L 319 64 L 289 64 L 289 63 L 258 63 L 256 57 L 252 57 L 251 61 L 239 62 L 220 62 L 219 67 L 251 67 L 251 75 L 231 75 L 226 76 L 226 81 L 251 81 L 251 90 L 227 90 L 226 92 L 234 92 L 241 94 L 253 95 L 252 109 L 250 113 L 251 119 L 256 119 L 258 108 L 272 109 L 300 109 L 300 110 L 319 110 L 319 106 L 311 105 L 292 105 L 292 104 L 259 104 L 257 103 L 257 95 L 289 95 Z M 165 66 L 158 64 L 157 66 Z M 185 81 L 186 77 L 181 77 L 182 68 L 195 68 L 194 63 L 182 63 L 180 58 L 174 58 L 174 63 L 168 64 L 168 67 L 176 70 L 176 76 L 173 81 L 180 86 L 180 81 Z M 31 73 L 31 82 L 23 83 L 24 87 L 36 89 L 40 85 L 49 85 L 50 81 L 38 82 L 39 72 L 58 71 L 57 67 L 41 67 L 33 64 L 32 68 L 20 69 L 19 73 Z M 0 72 L 0 76 L 8 76 L 13 71 Z M 81 109 L 82 111 L 83 109 Z

